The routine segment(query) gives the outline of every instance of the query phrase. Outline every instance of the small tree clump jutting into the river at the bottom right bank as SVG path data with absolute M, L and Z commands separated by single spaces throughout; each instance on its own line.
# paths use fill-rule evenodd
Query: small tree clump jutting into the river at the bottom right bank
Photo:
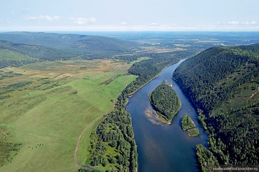
M 207 171 L 207 165 L 219 165 L 218 161 L 213 156 L 212 152 L 206 149 L 202 144 L 196 145 L 195 150 L 197 161 L 202 172 Z

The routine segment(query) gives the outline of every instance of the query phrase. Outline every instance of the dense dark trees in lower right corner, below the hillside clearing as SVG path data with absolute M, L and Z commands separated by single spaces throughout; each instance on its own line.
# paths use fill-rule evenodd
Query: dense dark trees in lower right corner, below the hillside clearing
M 213 118 L 216 138 L 226 145 L 231 164 L 259 162 L 259 102 L 250 103 Z

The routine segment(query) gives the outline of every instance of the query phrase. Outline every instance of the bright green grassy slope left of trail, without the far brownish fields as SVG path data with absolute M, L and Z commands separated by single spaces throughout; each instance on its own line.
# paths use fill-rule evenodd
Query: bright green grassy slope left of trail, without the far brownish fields
M 124 89 L 127 76 L 120 76 L 109 85 L 99 84 L 123 73 L 113 68 L 109 72 L 87 72 L 79 77 L 58 80 L 56 83 L 62 86 L 49 90 L 21 89 L 10 93 L 11 98 L 1 101 L 0 117 L 3 121 L 0 125 L 14 135 L 14 143 L 22 145 L 12 162 L 4 164 L 0 171 L 76 171 L 79 166 L 74 161 L 74 151 L 80 133 L 91 121 L 112 108 L 110 99 Z M 38 82 L 24 76 L 18 79 Z M 135 76 L 129 76 L 128 84 L 133 79 Z M 78 93 L 72 94 L 74 90 Z M 40 103 L 28 107 L 37 100 Z M 9 114 L 12 116 L 8 117 Z

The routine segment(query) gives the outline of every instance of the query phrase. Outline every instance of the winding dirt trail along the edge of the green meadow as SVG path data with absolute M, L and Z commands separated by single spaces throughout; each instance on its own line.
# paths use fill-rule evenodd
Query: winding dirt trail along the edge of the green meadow
M 124 88 L 127 87 L 128 81 L 129 81 L 129 75 L 127 75 L 127 82 L 126 82 L 126 85 L 125 85 Z M 116 102 L 116 99 L 117 99 L 117 97 L 118 97 L 119 94 L 121 94 L 121 92 L 118 93 L 118 94 L 116 95 L 116 97 L 114 98 L 114 100 L 113 100 L 113 108 L 110 109 L 109 111 L 105 112 L 102 116 L 100 116 L 100 117 L 96 118 L 95 120 L 93 120 L 93 121 L 83 130 L 83 132 L 80 134 L 80 136 L 79 136 L 79 138 L 78 138 L 78 140 L 77 140 L 77 146 L 76 146 L 76 150 L 75 150 L 75 160 L 76 160 L 76 163 L 77 163 L 78 165 L 80 165 L 81 167 L 83 167 L 83 168 L 85 168 L 85 169 L 94 170 L 93 168 L 91 168 L 91 167 L 89 167 L 89 166 L 85 166 L 85 165 L 79 163 L 78 160 L 77 160 L 77 154 L 78 154 L 78 149 L 79 149 L 79 146 L 80 146 L 81 138 L 82 138 L 82 136 L 85 134 L 85 132 L 87 131 L 88 128 L 90 128 L 96 121 L 98 121 L 98 120 L 99 120 L 101 117 L 103 117 L 105 114 L 110 113 L 110 112 L 114 109 L 114 107 L 115 107 L 115 102 Z

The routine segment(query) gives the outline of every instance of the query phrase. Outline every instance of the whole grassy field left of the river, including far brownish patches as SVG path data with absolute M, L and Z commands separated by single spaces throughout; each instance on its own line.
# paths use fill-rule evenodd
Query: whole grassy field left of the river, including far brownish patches
M 0 90 L 10 91 L 0 95 L 8 95 L 0 99 L 0 127 L 13 136 L 8 142 L 22 144 L 0 171 L 77 171 L 77 139 L 113 107 L 110 100 L 124 89 L 129 67 L 110 60 L 67 60 L 1 69 L 23 75 L 0 80 Z M 116 75 L 121 76 L 100 85 Z M 135 78 L 129 75 L 128 84 Z M 32 83 L 8 86 L 23 81 Z

